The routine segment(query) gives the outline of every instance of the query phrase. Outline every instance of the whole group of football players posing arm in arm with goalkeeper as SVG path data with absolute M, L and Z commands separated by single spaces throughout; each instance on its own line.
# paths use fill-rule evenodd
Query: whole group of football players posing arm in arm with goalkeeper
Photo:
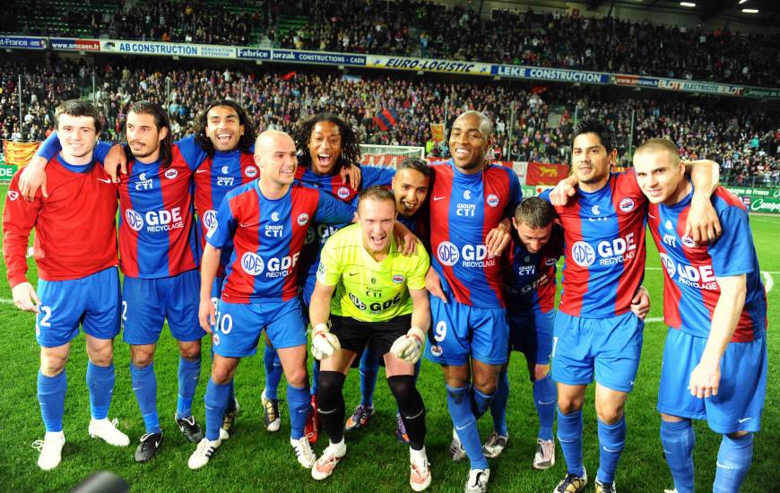
M 509 437 L 507 365 L 516 350 L 538 415 L 533 468 L 555 463 L 557 416 L 567 474 L 550 487 L 585 491 L 582 409 L 595 381 L 595 491 L 614 492 L 650 307 L 641 286 L 649 226 L 665 272 L 669 332 L 657 408 L 671 491 L 694 491 L 691 419 L 722 435 L 714 491 L 740 489 L 767 384 L 767 297 L 748 212 L 718 186 L 717 164 L 683 162 L 671 141 L 650 139 L 633 169 L 611 172 L 614 134 L 584 120 L 571 176 L 523 199 L 515 172 L 490 164 L 493 129 L 477 111 L 455 119 L 450 160 L 409 158 L 396 169 L 356 166 L 356 135 L 333 115 L 310 118 L 292 136 L 256 135 L 245 110 L 222 100 L 197 124 L 174 143 L 164 108 L 138 101 L 126 143 L 95 145 L 100 113 L 65 101 L 56 133 L 13 177 L 4 260 L 14 303 L 36 313 L 41 469 L 61 461 L 65 365 L 80 324 L 89 434 L 130 443 L 108 419 L 121 330 L 145 426 L 134 458 L 152 460 L 163 441 L 154 358 L 167 320 L 179 349 L 174 418 L 196 444 L 193 470 L 234 431 L 233 377 L 262 344 L 265 427 L 280 427 L 283 374 L 292 454 L 314 480 L 334 473 L 347 454 L 345 432 L 373 416 L 381 364 L 397 403 L 396 437 L 409 445 L 410 487 L 427 489 L 426 404 L 416 388 L 424 355 L 442 368 L 449 454 L 470 463 L 464 490 L 486 491 L 488 460 Z M 33 228 L 37 290 L 26 277 Z M 207 333 L 212 367 L 201 427 L 192 408 Z M 345 420 L 342 388 L 357 366 L 361 402 Z M 477 420 L 489 410 L 494 431 L 483 443 Z M 328 444 L 317 456 L 320 428 Z

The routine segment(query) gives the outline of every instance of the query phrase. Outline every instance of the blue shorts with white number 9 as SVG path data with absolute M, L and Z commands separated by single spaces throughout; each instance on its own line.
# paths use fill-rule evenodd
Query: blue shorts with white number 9
M 504 308 L 478 308 L 450 298 L 430 297 L 431 329 L 425 357 L 439 365 L 461 366 L 469 357 L 488 365 L 507 362 L 509 325 Z

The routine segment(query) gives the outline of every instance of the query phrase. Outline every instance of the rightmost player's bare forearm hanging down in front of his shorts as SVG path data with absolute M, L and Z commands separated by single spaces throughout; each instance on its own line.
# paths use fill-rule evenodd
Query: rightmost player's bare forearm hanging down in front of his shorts
M 720 286 L 721 296 L 715 304 L 712 314 L 712 326 L 709 337 L 696 368 L 690 372 L 689 390 L 699 399 L 718 394 L 721 380 L 721 358 L 740 321 L 742 308 L 747 296 L 747 278 L 745 274 L 715 277 Z

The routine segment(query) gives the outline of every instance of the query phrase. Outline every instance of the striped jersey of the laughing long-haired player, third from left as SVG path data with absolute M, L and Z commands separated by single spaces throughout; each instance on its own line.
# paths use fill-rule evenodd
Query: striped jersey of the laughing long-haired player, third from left
M 233 188 L 245 185 L 260 175 L 251 152 L 215 151 L 195 169 L 195 210 L 198 212 L 198 233 L 201 247 L 206 245 L 206 234 L 216 224 L 217 209 L 222 199 Z M 224 276 L 225 265 L 230 261 L 232 247 L 221 251 L 217 277 Z

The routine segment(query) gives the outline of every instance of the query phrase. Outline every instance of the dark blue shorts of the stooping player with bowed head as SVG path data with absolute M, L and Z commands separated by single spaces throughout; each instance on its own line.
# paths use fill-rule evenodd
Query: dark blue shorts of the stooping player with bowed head
M 555 310 L 509 310 L 509 350 L 521 351 L 529 365 L 549 365 Z

